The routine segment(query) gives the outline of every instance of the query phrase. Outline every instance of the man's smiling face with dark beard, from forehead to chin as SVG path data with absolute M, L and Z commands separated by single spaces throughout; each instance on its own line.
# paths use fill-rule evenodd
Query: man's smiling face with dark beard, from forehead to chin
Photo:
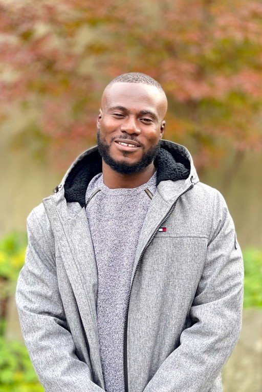
M 114 83 L 102 97 L 97 143 L 113 170 L 134 173 L 156 157 L 164 132 L 166 97 L 143 83 Z

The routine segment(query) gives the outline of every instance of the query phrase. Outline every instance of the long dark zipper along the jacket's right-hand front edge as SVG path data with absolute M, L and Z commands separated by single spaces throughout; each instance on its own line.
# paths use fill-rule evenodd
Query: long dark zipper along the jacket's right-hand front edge
M 192 181 L 192 178 L 191 178 L 191 181 Z M 155 238 L 155 236 L 157 235 L 159 228 L 168 220 L 169 216 L 171 215 L 173 210 L 176 208 L 176 205 L 178 204 L 178 201 L 181 198 L 181 196 L 183 196 L 183 194 L 185 194 L 190 189 L 192 189 L 193 186 L 194 186 L 194 183 L 192 182 L 192 184 L 183 193 L 181 193 L 179 195 L 179 197 L 176 199 L 176 201 L 174 201 L 174 203 L 171 206 L 170 210 L 168 211 L 168 213 L 166 214 L 164 219 L 158 225 L 158 227 L 156 228 L 155 232 L 151 235 L 149 241 L 145 245 L 145 247 L 144 247 L 144 249 L 143 249 L 143 251 L 142 251 L 142 253 L 141 253 L 140 257 L 139 257 L 137 267 L 135 269 L 135 273 L 134 273 L 134 276 L 133 276 L 133 279 L 132 279 L 132 283 L 131 283 L 131 286 L 130 286 L 129 295 L 128 295 L 128 298 L 127 298 L 127 307 L 126 307 L 125 319 L 124 319 L 124 385 L 125 385 L 125 392 L 128 392 L 128 374 L 127 374 L 127 323 L 128 323 L 128 310 L 129 310 L 129 303 L 130 303 L 130 297 L 131 297 L 132 288 L 133 288 L 133 285 L 134 285 L 134 280 L 135 280 L 138 268 L 139 268 L 139 266 L 141 264 L 141 260 L 142 260 L 144 254 L 145 254 L 145 251 L 149 247 L 149 245 L 152 243 L 152 241 Z

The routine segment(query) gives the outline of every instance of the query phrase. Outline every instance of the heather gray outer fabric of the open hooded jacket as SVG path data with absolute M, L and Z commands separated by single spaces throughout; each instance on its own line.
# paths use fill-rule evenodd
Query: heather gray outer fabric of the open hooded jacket
M 241 328 L 241 251 L 221 194 L 199 182 L 183 146 L 162 141 L 162 147 L 182 154 L 191 170 L 186 180 L 160 182 L 143 224 L 128 311 L 129 392 L 220 392 L 221 368 Z M 64 198 L 75 165 L 28 218 L 17 285 L 21 328 L 47 392 L 104 388 L 90 229 L 85 208 Z M 166 232 L 156 231 L 175 203 Z

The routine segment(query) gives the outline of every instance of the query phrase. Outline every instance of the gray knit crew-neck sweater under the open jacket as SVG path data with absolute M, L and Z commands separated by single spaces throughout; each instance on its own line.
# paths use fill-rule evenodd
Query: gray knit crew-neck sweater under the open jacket
M 150 204 L 145 188 L 154 194 L 156 180 L 155 173 L 138 188 L 110 189 L 100 173 L 86 190 L 98 271 L 97 322 L 106 392 L 124 391 L 124 315 L 138 239 Z

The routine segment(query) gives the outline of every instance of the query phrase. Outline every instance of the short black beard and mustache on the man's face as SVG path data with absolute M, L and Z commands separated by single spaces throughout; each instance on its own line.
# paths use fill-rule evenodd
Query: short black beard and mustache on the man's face
M 130 138 L 130 136 L 128 134 L 123 135 L 122 137 L 118 138 L 118 139 L 129 139 L 129 140 L 134 140 L 135 138 Z M 112 138 L 111 142 L 113 142 L 115 139 L 117 138 Z M 143 155 L 141 157 L 141 159 L 138 162 L 135 163 L 127 163 L 127 162 L 118 162 L 116 161 L 111 155 L 110 155 L 110 145 L 106 143 L 105 139 L 103 139 L 100 135 L 100 131 L 97 131 L 97 146 L 98 146 L 98 152 L 101 155 L 103 161 L 111 167 L 111 169 L 113 169 L 114 171 L 120 173 L 120 174 L 134 174 L 134 173 L 138 173 L 139 171 L 141 171 L 142 169 L 144 169 L 145 167 L 147 167 L 148 165 L 150 165 L 150 163 L 152 163 L 160 150 L 160 144 L 161 144 L 161 140 L 159 140 L 159 142 L 153 146 L 150 147 L 149 150 L 147 152 L 143 152 Z M 141 145 L 141 143 L 140 143 Z M 144 148 L 143 145 L 141 145 L 141 148 Z M 128 153 L 123 153 L 123 156 L 127 156 Z

